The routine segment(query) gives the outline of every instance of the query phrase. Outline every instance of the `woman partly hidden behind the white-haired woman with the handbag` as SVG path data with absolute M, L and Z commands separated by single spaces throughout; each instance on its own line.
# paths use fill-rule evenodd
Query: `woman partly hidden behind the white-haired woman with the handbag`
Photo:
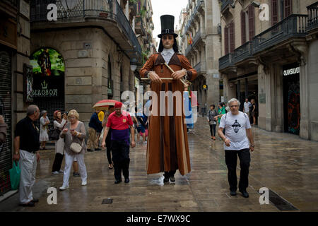
M 59 129 L 61 133 L 61 131 L 64 129 L 64 126 L 66 125 L 67 116 L 64 113 L 62 118 L 61 112 L 57 110 L 54 112 L 53 117 L 54 117 L 54 121 L 53 121 L 54 129 Z M 61 170 L 61 163 L 63 161 L 63 157 L 64 157 L 64 138 L 61 138 L 61 136 L 59 136 L 59 140 L 55 141 L 55 158 L 52 165 L 52 174 L 60 174 L 63 172 L 63 170 Z

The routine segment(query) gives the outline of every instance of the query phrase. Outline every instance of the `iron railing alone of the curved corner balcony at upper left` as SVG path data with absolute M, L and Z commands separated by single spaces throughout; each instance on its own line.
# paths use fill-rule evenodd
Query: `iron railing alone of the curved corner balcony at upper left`
M 54 3 L 57 5 L 57 20 L 47 20 L 47 5 Z M 71 3 L 71 4 L 70 4 Z M 136 38 L 134 31 L 127 20 L 122 7 L 119 6 L 116 0 L 43 0 L 43 1 L 30 1 L 30 21 L 46 22 L 46 23 L 68 23 L 68 22 L 85 22 L 86 18 L 98 18 L 102 20 L 113 20 L 117 23 L 119 28 L 126 38 L 131 42 L 134 47 L 135 55 L 141 59 L 141 46 Z M 129 51 L 131 55 L 131 51 Z

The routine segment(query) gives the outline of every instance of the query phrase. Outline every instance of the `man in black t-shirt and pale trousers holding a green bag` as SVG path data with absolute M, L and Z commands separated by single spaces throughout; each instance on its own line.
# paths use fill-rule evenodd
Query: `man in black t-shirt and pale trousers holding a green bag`
M 34 124 L 39 119 L 40 109 L 30 105 L 27 117 L 16 124 L 13 160 L 20 163 L 20 206 L 35 206 L 38 202 L 33 198 L 32 188 L 35 184 L 37 162 L 40 161 L 40 133 Z

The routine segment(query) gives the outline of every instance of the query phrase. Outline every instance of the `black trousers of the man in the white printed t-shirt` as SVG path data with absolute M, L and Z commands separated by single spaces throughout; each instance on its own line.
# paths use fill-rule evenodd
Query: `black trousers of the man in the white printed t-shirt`
M 237 155 L 240 158 L 241 167 L 239 190 L 245 191 L 247 186 L 249 186 L 249 162 L 251 162 L 251 154 L 248 148 L 242 150 L 225 150 L 225 163 L 228 166 L 228 183 L 230 184 L 230 191 L 237 190 Z

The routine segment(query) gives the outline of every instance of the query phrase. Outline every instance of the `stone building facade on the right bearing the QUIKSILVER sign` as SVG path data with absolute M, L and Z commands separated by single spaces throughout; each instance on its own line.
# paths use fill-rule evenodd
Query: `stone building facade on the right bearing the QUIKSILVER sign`
M 318 141 L 318 107 L 312 105 L 318 2 L 224 0 L 220 6 L 225 99 L 254 98 L 261 129 Z

